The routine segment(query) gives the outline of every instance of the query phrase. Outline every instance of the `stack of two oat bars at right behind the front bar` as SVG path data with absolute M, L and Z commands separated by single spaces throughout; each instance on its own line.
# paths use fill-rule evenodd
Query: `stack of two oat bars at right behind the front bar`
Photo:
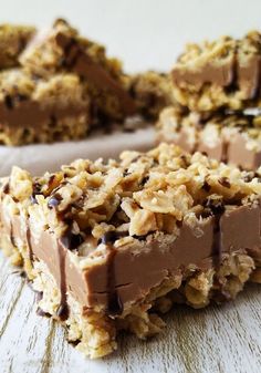
M 246 169 L 261 165 L 261 34 L 189 44 L 171 72 L 177 104 L 158 139 Z

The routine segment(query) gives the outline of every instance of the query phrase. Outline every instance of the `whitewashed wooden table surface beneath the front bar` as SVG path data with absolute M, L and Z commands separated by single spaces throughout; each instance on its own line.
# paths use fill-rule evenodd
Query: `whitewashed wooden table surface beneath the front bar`
M 0 253 L 0 373 L 260 373 L 260 290 L 250 284 L 222 307 L 177 307 L 157 338 L 124 335 L 118 352 L 90 361 L 59 324 L 35 314 L 33 291 Z

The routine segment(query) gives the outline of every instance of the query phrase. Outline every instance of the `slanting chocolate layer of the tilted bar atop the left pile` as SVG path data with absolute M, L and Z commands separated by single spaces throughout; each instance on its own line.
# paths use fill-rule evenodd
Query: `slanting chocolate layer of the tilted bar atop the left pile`
M 121 107 L 126 115 L 136 113 L 135 102 L 127 91 L 105 69 L 94 62 L 75 39 L 59 32 L 55 40 L 64 52 L 64 65 L 69 71 L 83 76 L 100 90 L 105 89 L 112 92 L 118 99 Z

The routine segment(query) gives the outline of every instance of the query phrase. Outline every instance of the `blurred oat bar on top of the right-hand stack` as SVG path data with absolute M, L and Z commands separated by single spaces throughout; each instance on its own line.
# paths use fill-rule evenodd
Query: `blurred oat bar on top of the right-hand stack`
M 260 106 L 261 34 L 188 44 L 173 69 L 174 96 L 197 112 Z

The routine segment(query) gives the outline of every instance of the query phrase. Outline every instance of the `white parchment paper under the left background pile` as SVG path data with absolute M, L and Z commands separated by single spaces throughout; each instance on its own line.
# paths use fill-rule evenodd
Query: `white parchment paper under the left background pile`
M 13 165 L 41 175 L 45 170 L 54 172 L 61 165 L 76 158 L 96 159 L 117 158 L 126 149 L 147 151 L 155 143 L 153 127 L 134 133 L 114 132 L 113 134 L 94 134 L 81 142 L 38 144 L 28 146 L 0 146 L 0 176 L 7 176 Z

